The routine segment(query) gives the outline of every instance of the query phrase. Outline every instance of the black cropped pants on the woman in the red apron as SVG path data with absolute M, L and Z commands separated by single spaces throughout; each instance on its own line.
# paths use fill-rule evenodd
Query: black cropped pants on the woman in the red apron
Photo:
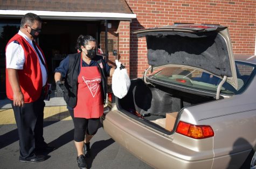
M 74 123 L 75 142 L 82 142 L 85 140 L 85 133 L 88 135 L 95 135 L 99 128 L 100 118 L 78 118 L 74 117 L 74 110 L 69 109 L 68 111 L 70 111 Z

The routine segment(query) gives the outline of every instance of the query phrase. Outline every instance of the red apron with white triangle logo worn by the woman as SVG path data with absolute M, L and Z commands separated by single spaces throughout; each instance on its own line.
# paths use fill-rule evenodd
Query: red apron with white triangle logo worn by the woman
M 77 105 L 74 117 L 99 118 L 103 115 L 101 76 L 97 66 L 82 67 L 78 75 Z

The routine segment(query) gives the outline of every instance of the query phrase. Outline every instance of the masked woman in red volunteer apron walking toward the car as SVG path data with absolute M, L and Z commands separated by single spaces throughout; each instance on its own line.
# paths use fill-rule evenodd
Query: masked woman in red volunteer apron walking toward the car
M 64 98 L 67 98 L 65 99 L 67 108 L 74 122 L 74 143 L 78 152 L 78 167 L 85 168 L 87 167 L 85 157 L 90 156 L 90 140 L 97 132 L 100 116 L 103 114 L 101 69 L 104 68 L 107 75 L 112 76 L 114 68 L 108 66 L 105 61 L 99 63 L 99 60 L 103 59 L 96 55 L 96 43 L 93 37 L 79 36 L 77 47 L 80 53 L 68 55 L 61 61 L 60 66 L 56 68 L 54 79 L 56 89 L 60 91 L 62 91 L 60 88 L 62 77 L 65 77 L 66 88 L 77 81 L 76 86 L 71 87 L 71 89 L 77 87 L 77 91 L 67 89 L 64 92 Z M 71 93 L 76 97 L 71 98 Z M 76 101 L 75 104 L 72 104 L 70 100 Z

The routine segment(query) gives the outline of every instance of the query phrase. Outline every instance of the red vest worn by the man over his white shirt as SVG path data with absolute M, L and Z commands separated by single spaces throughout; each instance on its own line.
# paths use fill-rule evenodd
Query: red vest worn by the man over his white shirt
M 14 40 L 17 40 L 18 43 L 22 45 L 22 48 L 24 50 L 26 60 L 25 60 L 23 69 L 18 69 L 17 71 L 19 76 L 20 89 L 22 90 L 22 93 L 24 95 L 24 102 L 31 103 L 38 100 L 42 90 L 43 80 L 42 80 L 40 63 L 39 63 L 36 51 L 34 51 L 33 47 L 29 44 L 28 41 L 26 41 L 19 34 L 16 34 L 9 40 L 8 44 Z M 43 57 L 44 57 L 43 51 L 40 49 L 39 46 L 37 47 L 39 48 L 40 52 L 43 54 Z M 46 61 L 45 57 L 44 57 L 44 60 Z M 6 95 L 10 100 L 13 100 L 13 91 L 9 82 L 7 69 L 5 72 L 6 72 Z

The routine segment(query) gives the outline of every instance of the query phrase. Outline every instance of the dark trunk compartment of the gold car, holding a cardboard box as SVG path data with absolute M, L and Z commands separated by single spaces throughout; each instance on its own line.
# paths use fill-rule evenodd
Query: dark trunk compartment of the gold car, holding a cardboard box
M 118 99 L 117 108 L 156 130 L 169 133 L 174 128 L 179 110 L 212 100 L 216 98 L 146 85 L 142 79 L 136 79 L 131 81 L 128 94 Z

